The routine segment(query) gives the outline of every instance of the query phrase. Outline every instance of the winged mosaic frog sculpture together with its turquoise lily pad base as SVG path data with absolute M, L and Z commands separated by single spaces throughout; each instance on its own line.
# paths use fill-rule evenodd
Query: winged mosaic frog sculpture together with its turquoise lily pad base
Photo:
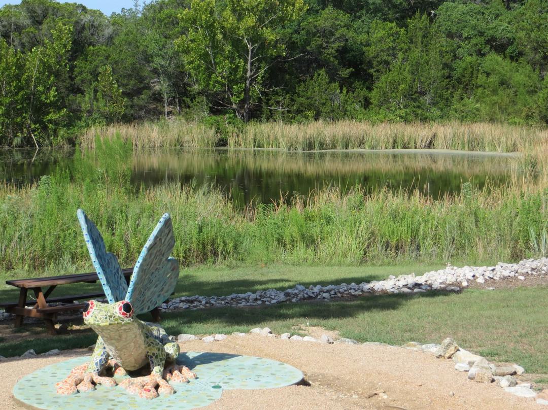
M 169 214 L 163 215 L 142 250 L 125 300 L 114 300 L 122 296 L 119 290 L 109 288 L 117 286 L 119 265 L 113 269 L 101 265 L 117 265 L 116 257 L 106 253 L 99 231 L 80 209 L 78 218 L 105 293 L 110 296 L 109 304 L 90 300 L 84 310 L 84 322 L 99 334 L 95 351 L 87 363 L 76 366 L 84 359 L 69 360 L 21 379 L 14 388 L 16 400 L 39 409 L 94 410 L 110 406 L 107 410 L 156 410 L 176 403 L 179 410 L 185 410 L 208 405 L 220 397 L 222 390 L 272 388 L 302 379 L 298 369 L 264 358 L 179 354 L 179 344 L 170 341 L 164 329 L 134 316 L 155 307 L 175 287 L 179 266 L 169 257 L 175 243 Z M 123 288 L 125 281 L 119 286 Z M 185 365 L 200 377 L 196 378 L 196 373 Z M 146 369 L 150 373 L 134 374 Z M 49 377 L 44 379 L 44 373 Z M 64 380 L 55 383 L 66 374 Z M 85 394 L 73 394 L 78 392 Z M 145 398 L 155 400 L 142 400 Z

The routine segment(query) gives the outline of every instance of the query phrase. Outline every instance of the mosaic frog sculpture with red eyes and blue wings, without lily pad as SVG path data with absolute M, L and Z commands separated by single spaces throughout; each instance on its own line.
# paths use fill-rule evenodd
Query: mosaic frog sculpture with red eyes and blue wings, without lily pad
M 136 317 L 156 308 L 175 289 L 179 263 L 169 256 L 175 246 L 170 215 L 164 214 L 152 231 L 128 286 L 116 255 L 106 252 L 105 242 L 93 221 L 82 209 L 77 214 L 109 303 L 87 302 L 84 322 L 99 338 L 89 363 L 74 368 L 65 380 L 56 384 L 57 392 L 75 394 L 93 390 L 96 384 L 115 386 L 114 377 L 150 366 L 150 374 L 125 378 L 120 385 L 143 398 L 173 394 L 175 390 L 168 382 L 185 383 L 196 378 L 196 374 L 175 364 L 179 344 L 171 341 L 161 326 Z

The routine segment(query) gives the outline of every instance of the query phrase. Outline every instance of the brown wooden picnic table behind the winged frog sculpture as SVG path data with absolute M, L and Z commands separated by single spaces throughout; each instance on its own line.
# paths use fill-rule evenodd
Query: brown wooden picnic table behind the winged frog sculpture
M 131 276 L 133 274 L 133 267 L 122 269 L 125 280 L 129 284 Z M 23 318 L 39 317 L 45 322 L 45 326 L 48 328 L 51 334 L 57 334 L 55 325 L 53 323 L 57 318 L 58 312 L 79 310 L 84 308 L 84 301 L 90 299 L 104 297 L 104 292 L 84 293 L 77 295 L 68 295 L 60 297 L 50 297 L 53 290 L 63 284 L 72 283 L 95 283 L 99 280 L 96 272 L 89 272 L 87 274 L 76 275 L 62 275 L 62 276 L 48 276 L 38 277 L 30 279 L 16 279 L 12 281 L 5 281 L 6 284 L 20 288 L 19 300 L 1 303 L 0 308 L 4 308 L 6 312 L 15 314 L 15 327 L 19 327 L 23 323 Z M 43 288 L 47 289 L 43 291 Z M 31 289 L 35 294 L 35 299 L 27 299 L 27 294 Z M 77 300 L 83 300 L 82 303 L 74 303 Z M 48 306 L 53 303 L 68 303 L 65 305 Z M 160 314 L 159 309 L 154 308 L 151 310 L 153 321 L 159 322 Z

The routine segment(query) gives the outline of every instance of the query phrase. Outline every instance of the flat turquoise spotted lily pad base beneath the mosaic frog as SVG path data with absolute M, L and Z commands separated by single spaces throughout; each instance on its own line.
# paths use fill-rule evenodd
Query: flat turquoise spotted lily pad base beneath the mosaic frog
M 27 408 L 43 410 L 186 410 L 211 404 L 224 390 L 270 389 L 302 380 L 299 369 L 267 358 L 186 352 L 179 355 L 177 363 L 189 367 L 198 378 L 190 383 L 173 384 L 173 395 L 146 400 L 130 395 L 120 386 L 97 386 L 94 391 L 68 396 L 56 394 L 55 383 L 89 359 L 73 358 L 25 376 L 13 388 L 15 400 Z M 118 381 L 122 379 L 117 378 Z

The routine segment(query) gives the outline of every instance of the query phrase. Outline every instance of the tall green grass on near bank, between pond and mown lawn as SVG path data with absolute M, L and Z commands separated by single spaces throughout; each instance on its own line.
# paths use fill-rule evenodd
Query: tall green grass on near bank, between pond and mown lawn
M 459 196 L 434 201 L 419 191 L 366 194 L 357 186 L 343 195 L 326 188 L 290 203 L 282 197 L 276 204 L 236 209 L 212 187 L 170 184 L 137 191 L 128 183 L 127 162 L 116 158 L 111 166 L 93 168 L 88 159 L 84 155 L 75 169 L 37 185 L 0 187 L 0 270 L 41 276 L 89 269 L 79 207 L 125 266 L 134 263 L 167 211 L 176 237 L 173 255 L 186 266 L 473 263 L 546 253 L 548 191 L 542 189 L 478 192 L 464 184 Z

